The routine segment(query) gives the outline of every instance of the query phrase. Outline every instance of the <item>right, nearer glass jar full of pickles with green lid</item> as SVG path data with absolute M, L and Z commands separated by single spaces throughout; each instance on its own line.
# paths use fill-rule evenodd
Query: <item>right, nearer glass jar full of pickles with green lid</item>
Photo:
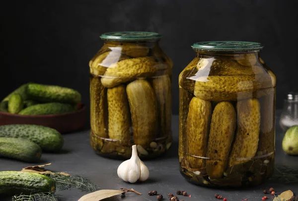
M 179 75 L 179 168 L 210 187 L 255 186 L 275 158 L 276 77 L 251 42 L 201 42 Z

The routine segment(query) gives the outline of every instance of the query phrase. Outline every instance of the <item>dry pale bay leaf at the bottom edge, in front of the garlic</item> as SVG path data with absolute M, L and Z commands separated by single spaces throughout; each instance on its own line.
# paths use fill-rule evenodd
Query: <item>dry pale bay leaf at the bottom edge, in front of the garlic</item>
M 118 191 L 118 190 L 99 190 L 99 191 L 95 191 L 93 193 L 84 195 L 78 201 L 101 201 L 103 199 L 117 196 L 122 193 L 123 191 Z

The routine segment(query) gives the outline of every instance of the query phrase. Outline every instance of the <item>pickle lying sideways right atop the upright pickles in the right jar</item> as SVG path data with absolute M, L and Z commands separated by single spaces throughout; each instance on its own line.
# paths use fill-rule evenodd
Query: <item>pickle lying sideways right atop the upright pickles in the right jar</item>
M 272 86 L 271 77 L 265 75 L 199 77 L 195 82 L 194 95 L 210 101 L 252 98 L 255 90 Z

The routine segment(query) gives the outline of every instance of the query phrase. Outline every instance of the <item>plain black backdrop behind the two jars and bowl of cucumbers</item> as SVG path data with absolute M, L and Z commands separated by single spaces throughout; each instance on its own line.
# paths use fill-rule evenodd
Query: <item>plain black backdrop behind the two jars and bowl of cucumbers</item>
M 77 89 L 89 102 L 88 62 L 109 31 L 163 35 L 173 60 L 173 113 L 178 75 L 198 41 L 262 43 L 277 75 L 277 108 L 298 90 L 297 0 L 10 0 L 1 5 L 0 99 L 28 81 Z

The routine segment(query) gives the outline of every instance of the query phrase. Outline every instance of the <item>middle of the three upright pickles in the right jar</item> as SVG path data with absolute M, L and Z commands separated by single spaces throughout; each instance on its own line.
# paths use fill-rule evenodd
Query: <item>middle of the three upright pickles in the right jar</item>
M 236 128 L 236 112 L 229 102 L 216 105 L 211 120 L 206 171 L 209 177 L 223 177 Z

